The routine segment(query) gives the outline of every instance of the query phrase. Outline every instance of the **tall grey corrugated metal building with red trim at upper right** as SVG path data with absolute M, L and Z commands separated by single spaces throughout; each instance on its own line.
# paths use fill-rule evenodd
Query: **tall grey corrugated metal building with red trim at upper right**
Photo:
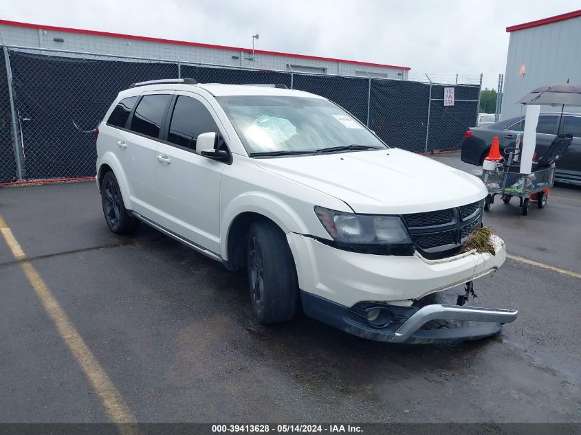
M 516 102 L 533 89 L 567 80 L 581 84 L 581 10 L 513 25 L 506 31 L 510 40 L 501 120 L 519 116 L 521 107 Z M 555 110 L 541 106 L 541 111 Z

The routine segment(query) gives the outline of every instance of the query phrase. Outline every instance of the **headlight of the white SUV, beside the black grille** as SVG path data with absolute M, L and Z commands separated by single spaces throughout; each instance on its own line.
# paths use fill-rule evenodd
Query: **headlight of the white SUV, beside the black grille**
M 338 243 L 350 245 L 411 245 L 412 241 L 398 216 L 373 216 L 337 212 L 315 207 L 320 223 Z

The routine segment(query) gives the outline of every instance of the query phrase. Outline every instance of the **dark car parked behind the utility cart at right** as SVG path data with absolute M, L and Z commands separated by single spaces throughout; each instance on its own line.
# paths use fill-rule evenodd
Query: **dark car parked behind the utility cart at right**
M 542 155 L 549 147 L 559 127 L 560 113 L 541 113 L 536 127 L 536 153 Z M 498 136 L 501 155 L 504 148 L 514 146 L 516 133 L 525 130 L 523 118 L 510 118 L 485 127 L 473 127 L 464 135 L 462 161 L 482 166 L 492 145 L 492 137 Z M 581 113 L 563 113 L 563 133 L 572 133 L 573 142 L 557 161 L 556 181 L 581 186 Z

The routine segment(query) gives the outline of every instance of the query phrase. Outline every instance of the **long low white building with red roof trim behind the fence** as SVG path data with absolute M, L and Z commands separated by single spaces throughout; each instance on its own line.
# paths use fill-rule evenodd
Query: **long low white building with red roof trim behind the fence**
M 74 52 L 124 55 L 131 57 L 181 60 L 205 65 L 252 67 L 282 71 L 337 74 L 406 80 L 409 67 L 344 60 L 305 54 L 291 54 L 173 41 L 171 39 L 133 36 L 95 30 L 80 30 L 51 25 L 0 20 L 0 32 L 6 45 Z M 250 39 L 250 36 L 249 36 Z M 1 41 L 1 38 L 0 38 Z

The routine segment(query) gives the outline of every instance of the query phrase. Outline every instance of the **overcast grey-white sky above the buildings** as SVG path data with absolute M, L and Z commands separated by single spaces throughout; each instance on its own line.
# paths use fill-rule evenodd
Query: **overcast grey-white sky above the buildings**
M 2 0 L 0 18 L 411 67 L 505 72 L 509 25 L 577 10 L 579 0 Z

